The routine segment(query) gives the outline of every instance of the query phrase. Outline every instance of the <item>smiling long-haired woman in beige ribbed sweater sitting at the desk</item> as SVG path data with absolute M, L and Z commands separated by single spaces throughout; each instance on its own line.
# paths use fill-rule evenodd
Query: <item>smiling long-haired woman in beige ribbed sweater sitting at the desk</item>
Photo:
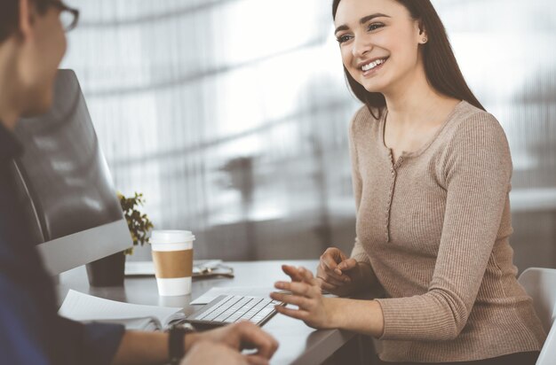
M 314 328 L 380 338 L 381 361 L 534 364 L 545 334 L 512 264 L 512 159 L 467 87 L 428 0 L 335 0 L 353 93 L 351 257 L 285 266 L 277 307 Z M 371 291 L 374 300 L 324 298 Z

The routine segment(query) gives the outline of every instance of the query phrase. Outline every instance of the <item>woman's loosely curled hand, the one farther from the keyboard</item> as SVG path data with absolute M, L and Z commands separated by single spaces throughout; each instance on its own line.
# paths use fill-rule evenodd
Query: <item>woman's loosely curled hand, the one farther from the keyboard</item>
M 361 270 L 355 259 L 348 259 L 344 252 L 330 247 L 322 253 L 316 277 L 323 290 L 343 297 L 358 289 Z

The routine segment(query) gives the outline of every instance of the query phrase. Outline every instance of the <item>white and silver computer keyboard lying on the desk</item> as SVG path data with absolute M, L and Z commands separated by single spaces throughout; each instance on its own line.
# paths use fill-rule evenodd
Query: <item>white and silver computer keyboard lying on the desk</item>
M 187 322 L 193 325 L 221 326 L 250 321 L 262 325 L 276 314 L 274 309 L 276 305 L 283 305 L 283 303 L 258 297 L 220 295 L 194 315 L 188 316 Z

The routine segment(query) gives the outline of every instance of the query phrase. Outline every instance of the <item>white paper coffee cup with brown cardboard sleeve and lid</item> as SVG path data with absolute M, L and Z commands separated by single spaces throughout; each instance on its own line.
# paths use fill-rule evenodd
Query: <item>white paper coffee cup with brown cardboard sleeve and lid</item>
M 191 293 L 193 241 L 188 230 L 153 230 L 151 244 L 155 263 L 156 285 L 161 296 Z

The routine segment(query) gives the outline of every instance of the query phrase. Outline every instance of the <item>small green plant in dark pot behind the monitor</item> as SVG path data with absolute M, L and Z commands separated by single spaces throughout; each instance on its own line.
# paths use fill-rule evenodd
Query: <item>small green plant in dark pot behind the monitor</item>
M 153 229 L 153 223 L 147 214 L 141 213 L 139 207 L 145 204 L 143 194 L 135 193 L 131 198 L 126 198 L 118 193 L 118 200 L 122 206 L 123 217 L 130 229 L 133 246 L 144 245 L 148 242 L 148 232 Z M 133 247 L 117 252 L 100 260 L 87 264 L 87 275 L 91 286 L 121 286 L 125 269 L 125 255 L 132 254 Z

